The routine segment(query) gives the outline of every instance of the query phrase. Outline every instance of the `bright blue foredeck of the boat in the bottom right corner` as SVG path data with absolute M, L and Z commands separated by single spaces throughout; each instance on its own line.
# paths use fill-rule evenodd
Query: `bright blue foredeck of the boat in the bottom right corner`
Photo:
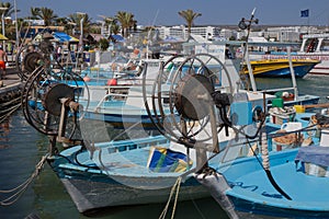
M 294 158 L 296 153 L 297 150 L 292 150 L 291 158 Z M 262 169 L 257 171 L 247 170 L 245 172 L 247 174 L 240 176 L 235 173 L 228 173 L 227 175 L 227 180 L 232 187 L 227 192 L 227 195 L 234 199 L 237 209 L 247 210 L 249 208 L 250 210 L 250 206 L 253 206 L 256 211 L 261 212 L 266 210 L 270 212 L 273 211 L 273 208 L 276 210 L 280 208 L 281 214 L 284 214 L 285 210 L 292 210 L 310 211 L 315 215 L 317 215 L 317 211 L 327 211 L 327 215 L 329 215 L 329 189 L 327 189 L 329 177 L 304 173 L 300 170 L 300 164 L 296 166 L 294 159 L 287 158 L 287 160 L 282 161 L 284 162 L 275 164 L 276 161 L 274 160 L 274 165 L 270 170 L 277 185 L 292 200 L 285 198 L 273 187 L 265 171 Z M 260 166 L 259 163 L 258 165 Z M 270 215 L 272 214 L 274 212 L 270 212 Z M 286 215 L 290 215 L 290 212 L 286 212 Z

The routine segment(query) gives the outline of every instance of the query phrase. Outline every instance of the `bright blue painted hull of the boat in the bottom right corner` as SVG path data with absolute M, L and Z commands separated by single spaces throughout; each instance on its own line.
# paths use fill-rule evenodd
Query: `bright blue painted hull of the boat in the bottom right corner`
M 270 155 L 272 175 L 291 200 L 273 187 L 257 159 L 231 163 L 224 175 L 231 186 L 226 195 L 236 209 L 275 217 L 328 218 L 329 177 L 307 175 L 296 169 L 297 151 L 291 149 Z

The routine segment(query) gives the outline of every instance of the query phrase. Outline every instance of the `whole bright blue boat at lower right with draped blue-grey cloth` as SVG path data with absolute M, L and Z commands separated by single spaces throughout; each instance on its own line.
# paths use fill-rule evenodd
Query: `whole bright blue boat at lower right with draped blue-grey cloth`
M 280 218 L 328 218 L 328 158 L 327 142 L 293 146 L 270 152 L 270 169 L 256 155 L 223 162 L 216 171 L 225 176 L 225 195 L 236 210 Z

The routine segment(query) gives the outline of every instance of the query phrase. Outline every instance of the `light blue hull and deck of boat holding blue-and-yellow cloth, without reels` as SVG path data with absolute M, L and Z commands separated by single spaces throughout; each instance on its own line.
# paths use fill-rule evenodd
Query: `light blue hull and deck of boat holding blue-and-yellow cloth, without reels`
M 94 147 L 97 151 L 93 154 L 87 148 L 77 146 L 48 159 L 80 212 L 104 207 L 166 203 L 178 177 L 186 171 L 186 165 L 178 170 L 178 162 L 183 162 L 179 158 L 185 155 L 172 150 L 169 154 L 169 142 L 163 136 L 95 143 Z M 151 153 L 155 149 L 161 149 L 163 158 L 171 162 L 159 164 L 157 154 Z M 154 165 L 148 163 L 151 162 L 150 154 L 155 154 Z M 190 168 L 192 165 L 195 163 Z M 180 185 L 179 200 L 208 196 L 209 193 L 192 174 L 186 175 Z

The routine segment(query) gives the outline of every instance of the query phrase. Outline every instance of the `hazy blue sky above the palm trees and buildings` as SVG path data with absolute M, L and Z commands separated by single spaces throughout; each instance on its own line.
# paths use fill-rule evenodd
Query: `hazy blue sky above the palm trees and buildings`
M 237 24 L 241 18 L 254 18 L 262 25 L 329 25 L 328 0 L 15 0 L 21 10 L 19 18 L 31 15 L 30 9 L 46 7 L 58 16 L 86 12 L 92 22 L 99 15 L 114 16 L 117 11 L 134 14 L 138 25 L 181 25 L 184 20 L 179 11 L 191 9 L 202 15 L 195 25 Z M 0 0 L 1 2 L 1 0 Z M 2 0 L 11 2 L 14 0 Z M 309 10 L 308 18 L 300 18 L 302 10 Z

